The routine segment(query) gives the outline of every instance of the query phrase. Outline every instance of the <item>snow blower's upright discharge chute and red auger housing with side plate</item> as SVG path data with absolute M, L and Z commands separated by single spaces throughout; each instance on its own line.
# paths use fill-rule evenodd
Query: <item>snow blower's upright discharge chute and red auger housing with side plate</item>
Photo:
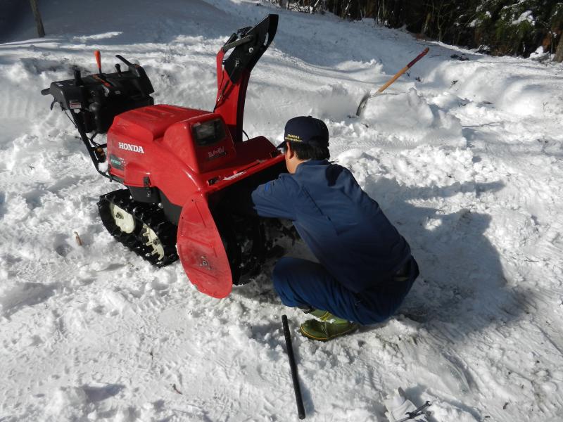
M 239 163 L 232 173 L 213 185 L 218 191 L 243 178 L 283 161 L 283 156 L 264 160 L 274 154 L 271 143 L 260 145 L 258 139 L 242 142 L 244 103 L 248 80 L 254 65 L 272 43 L 278 16 L 268 15 L 258 25 L 233 34 L 217 53 L 217 98 L 214 112 L 220 114 L 236 146 Z M 224 59 L 229 50 L 229 57 Z M 265 139 L 264 139 L 265 140 Z M 261 150 L 261 151 L 260 151 Z M 262 158 L 260 158 L 262 157 Z M 194 193 L 184 203 L 178 226 L 177 249 L 186 274 L 198 290 L 214 298 L 224 298 L 232 290 L 232 274 L 227 253 L 209 208 L 210 189 Z

